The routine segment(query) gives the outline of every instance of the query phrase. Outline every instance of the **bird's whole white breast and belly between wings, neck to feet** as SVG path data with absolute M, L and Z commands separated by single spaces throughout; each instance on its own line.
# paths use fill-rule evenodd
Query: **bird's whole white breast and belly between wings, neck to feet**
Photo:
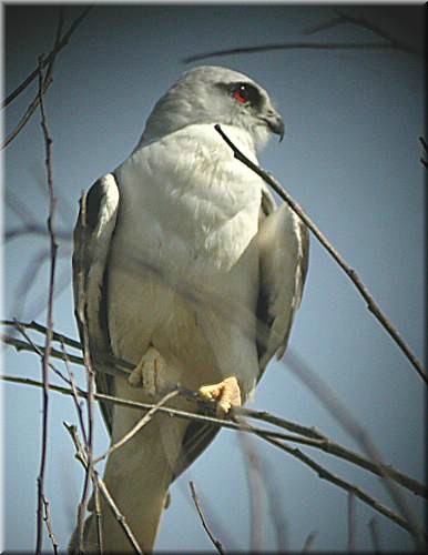
M 222 143 L 217 150 L 193 144 L 185 157 L 172 149 L 188 151 L 188 139 L 175 139 L 173 147 L 165 141 L 143 149 L 115 172 L 121 211 L 109 263 L 113 350 L 137 363 L 153 344 L 172 381 L 194 389 L 242 374 L 249 391 L 258 372 L 252 240 L 261 183 L 224 160 Z

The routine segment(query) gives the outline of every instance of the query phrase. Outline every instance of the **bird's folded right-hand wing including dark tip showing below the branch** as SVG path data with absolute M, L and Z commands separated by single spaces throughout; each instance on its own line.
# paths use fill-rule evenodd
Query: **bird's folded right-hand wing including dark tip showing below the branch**
M 285 205 L 264 189 L 257 234 L 261 286 L 257 303 L 257 350 L 263 374 L 267 362 L 285 351 L 294 314 L 299 305 L 307 272 L 308 233 Z M 193 422 L 188 425 L 175 478 L 210 445 L 220 428 Z

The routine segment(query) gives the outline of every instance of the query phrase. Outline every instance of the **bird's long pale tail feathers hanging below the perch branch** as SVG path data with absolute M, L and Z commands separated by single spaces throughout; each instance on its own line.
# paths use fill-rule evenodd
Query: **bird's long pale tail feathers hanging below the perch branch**
M 118 416 L 116 413 L 115 421 Z M 169 487 L 185 427 L 185 421 L 156 415 L 150 425 L 108 460 L 104 483 L 143 553 L 153 551 L 162 512 L 169 503 Z M 91 501 L 91 511 L 93 505 Z M 104 553 L 135 553 L 123 526 L 103 498 L 101 523 Z M 69 545 L 70 554 L 79 553 L 78 543 L 74 532 Z M 85 522 L 84 551 L 99 552 L 94 513 Z

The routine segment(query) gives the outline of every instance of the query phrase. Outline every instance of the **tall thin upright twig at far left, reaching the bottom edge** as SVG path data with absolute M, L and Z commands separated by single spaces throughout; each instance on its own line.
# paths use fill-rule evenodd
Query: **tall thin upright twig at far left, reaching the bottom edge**
M 42 551 L 43 543 L 43 500 L 45 500 L 44 494 L 44 474 L 47 466 L 47 453 L 48 453 L 48 422 L 49 422 L 49 356 L 51 351 L 52 341 L 52 330 L 53 330 L 53 290 L 54 290 L 54 278 L 55 278 L 55 265 L 57 265 L 57 250 L 58 243 L 54 232 L 54 210 L 55 210 L 55 199 L 53 195 L 53 171 L 52 171 L 52 139 L 48 129 L 48 121 L 44 111 L 43 103 L 43 59 L 39 59 L 39 102 L 40 102 L 40 113 L 41 113 L 41 125 L 43 131 L 44 147 L 45 147 L 45 168 L 47 168 L 47 181 L 49 189 L 49 215 L 48 215 L 48 230 L 50 234 L 50 245 L 51 245 L 51 264 L 50 264 L 50 276 L 49 276 L 49 294 L 48 294 L 48 314 L 47 314 L 47 335 L 44 344 L 44 354 L 42 359 L 42 376 L 43 376 L 43 407 L 42 407 L 42 446 L 41 446 L 41 457 L 40 457 L 40 471 L 38 476 L 38 518 L 37 518 L 37 539 L 35 539 L 35 553 L 40 554 Z

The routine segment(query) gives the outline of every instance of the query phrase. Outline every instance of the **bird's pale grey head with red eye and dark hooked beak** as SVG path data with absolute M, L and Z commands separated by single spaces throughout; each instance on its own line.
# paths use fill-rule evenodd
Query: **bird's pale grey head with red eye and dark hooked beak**
M 185 72 L 150 114 L 143 140 L 153 140 L 195 123 L 234 125 L 257 147 L 272 133 L 284 135 L 284 122 L 267 92 L 243 73 L 215 65 Z

